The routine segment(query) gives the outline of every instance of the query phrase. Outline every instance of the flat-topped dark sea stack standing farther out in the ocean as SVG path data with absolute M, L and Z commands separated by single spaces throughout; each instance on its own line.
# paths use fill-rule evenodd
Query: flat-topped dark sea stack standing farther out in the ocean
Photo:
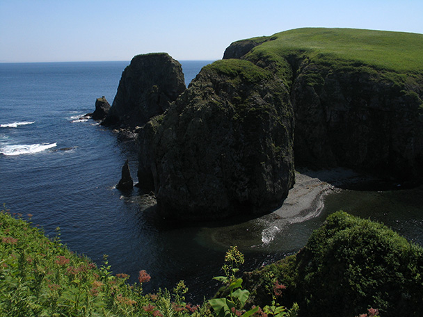
M 166 111 L 186 89 L 182 67 L 165 53 L 138 55 L 122 73 L 118 92 L 102 122 L 134 128 Z

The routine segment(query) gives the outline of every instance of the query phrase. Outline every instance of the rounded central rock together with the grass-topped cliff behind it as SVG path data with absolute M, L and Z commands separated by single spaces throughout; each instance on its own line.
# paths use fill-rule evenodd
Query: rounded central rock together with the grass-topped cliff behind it
M 421 35 L 352 29 L 235 42 L 143 126 L 140 184 L 164 216 L 216 219 L 282 204 L 294 152 L 298 165 L 419 179 L 422 49 Z

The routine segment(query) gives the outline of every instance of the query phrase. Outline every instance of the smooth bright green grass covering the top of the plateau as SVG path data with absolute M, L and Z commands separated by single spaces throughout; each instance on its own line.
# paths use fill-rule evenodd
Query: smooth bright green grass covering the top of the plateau
M 362 29 L 294 29 L 271 36 L 250 54 L 304 54 L 329 63 L 355 61 L 394 72 L 423 71 L 423 35 Z

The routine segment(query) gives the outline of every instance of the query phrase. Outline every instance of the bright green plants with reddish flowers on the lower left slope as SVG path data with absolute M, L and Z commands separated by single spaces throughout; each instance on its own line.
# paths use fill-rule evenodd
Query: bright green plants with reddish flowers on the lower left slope
M 68 250 L 60 234 L 50 240 L 29 222 L 1 211 L 0 316 L 296 316 L 298 307 L 243 309 L 249 292 L 235 277 L 242 263 L 243 255 L 232 247 L 223 265 L 225 276 L 216 277 L 228 296 L 190 304 L 183 281 L 172 291 L 144 294 L 143 284 L 150 280 L 145 270 L 129 285 L 129 275 L 111 274 L 106 257 L 98 268 Z

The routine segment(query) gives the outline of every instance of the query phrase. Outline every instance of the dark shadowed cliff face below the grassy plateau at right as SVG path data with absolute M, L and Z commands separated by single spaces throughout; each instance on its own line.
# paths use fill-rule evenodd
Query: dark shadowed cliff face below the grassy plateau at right
M 388 173 L 399 180 L 421 175 L 422 91 L 390 76 L 397 74 L 302 65 L 291 92 L 296 163 Z

